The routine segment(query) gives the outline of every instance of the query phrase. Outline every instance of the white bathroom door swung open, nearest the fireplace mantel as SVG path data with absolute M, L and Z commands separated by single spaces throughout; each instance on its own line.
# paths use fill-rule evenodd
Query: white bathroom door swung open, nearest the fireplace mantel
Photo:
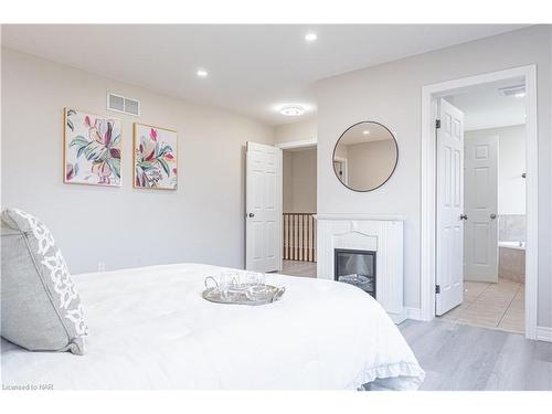
M 435 311 L 443 315 L 464 295 L 464 114 L 440 99 L 438 118 Z

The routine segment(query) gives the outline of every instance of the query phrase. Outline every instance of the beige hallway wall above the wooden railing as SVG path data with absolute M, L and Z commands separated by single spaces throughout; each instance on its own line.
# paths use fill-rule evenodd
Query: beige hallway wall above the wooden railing
M 284 213 L 316 213 L 316 148 L 284 150 Z

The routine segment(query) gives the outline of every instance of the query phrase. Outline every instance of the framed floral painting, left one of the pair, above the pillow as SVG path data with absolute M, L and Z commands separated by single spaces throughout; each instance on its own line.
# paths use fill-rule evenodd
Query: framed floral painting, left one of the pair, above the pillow
M 120 187 L 120 120 L 75 108 L 64 115 L 64 182 Z

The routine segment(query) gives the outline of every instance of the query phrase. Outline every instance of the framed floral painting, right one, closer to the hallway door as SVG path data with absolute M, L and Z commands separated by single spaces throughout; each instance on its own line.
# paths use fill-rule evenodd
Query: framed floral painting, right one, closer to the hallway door
M 135 124 L 134 187 L 176 190 L 178 184 L 177 131 L 151 125 Z

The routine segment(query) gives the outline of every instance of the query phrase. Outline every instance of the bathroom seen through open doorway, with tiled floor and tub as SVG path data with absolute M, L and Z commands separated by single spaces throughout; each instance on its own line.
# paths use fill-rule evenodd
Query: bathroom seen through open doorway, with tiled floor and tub
M 450 310 L 440 309 L 440 317 L 523 333 L 526 85 L 522 78 L 511 78 L 442 99 L 445 102 L 440 105 L 447 106 L 440 108 L 445 117 L 455 108 L 458 112 L 453 119 L 463 118 L 459 128 L 464 129 L 464 171 L 458 195 L 464 205 L 459 215 L 464 248 L 463 300 Z M 448 153 L 446 146 L 437 142 L 440 147 L 444 150 L 437 152 L 437 171 L 447 174 Z M 450 171 L 454 173 L 454 166 Z M 447 177 L 438 173 L 437 180 L 442 181 L 438 188 L 445 190 L 439 198 L 445 205 L 447 185 L 443 184 Z M 436 310 L 439 315 L 438 307 Z

